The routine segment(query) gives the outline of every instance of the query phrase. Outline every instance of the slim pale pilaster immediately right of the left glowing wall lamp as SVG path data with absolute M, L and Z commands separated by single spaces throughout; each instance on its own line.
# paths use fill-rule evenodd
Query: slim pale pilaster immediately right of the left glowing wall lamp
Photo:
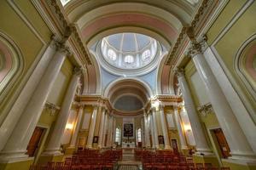
M 72 139 L 71 139 L 71 142 L 69 145 L 70 148 L 74 148 L 76 146 L 76 141 L 78 138 L 83 113 L 84 113 L 84 105 L 80 105 L 79 111 L 78 111 L 78 116 L 77 116 L 77 121 L 76 121 L 76 126 L 74 127 Z

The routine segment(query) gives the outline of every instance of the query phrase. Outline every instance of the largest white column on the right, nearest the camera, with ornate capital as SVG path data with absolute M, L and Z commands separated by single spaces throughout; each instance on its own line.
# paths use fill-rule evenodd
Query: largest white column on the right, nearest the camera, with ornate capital
M 218 123 L 230 145 L 231 158 L 244 159 L 247 161 L 256 160 L 255 154 L 236 120 L 236 116 L 233 114 L 210 66 L 207 64 L 207 60 L 202 54 L 200 44 L 193 43 L 190 54 L 195 64 L 196 71 L 198 71 L 201 80 L 207 88 L 207 94 L 218 119 Z

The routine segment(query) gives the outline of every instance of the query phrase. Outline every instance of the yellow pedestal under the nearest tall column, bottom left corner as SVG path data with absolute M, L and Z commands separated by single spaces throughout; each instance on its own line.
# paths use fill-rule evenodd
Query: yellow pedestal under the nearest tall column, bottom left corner
M 9 161 L 1 161 L 1 170 L 29 169 L 34 161 L 34 157 L 24 157 L 20 159 L 12 159 Z

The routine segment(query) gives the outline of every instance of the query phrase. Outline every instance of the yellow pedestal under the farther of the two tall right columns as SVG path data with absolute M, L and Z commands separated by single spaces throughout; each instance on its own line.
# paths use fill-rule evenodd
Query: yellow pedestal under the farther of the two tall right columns
M 194 154 L 193 161 L 195 163 L 212 163 L 213 167 L 219 167 L 218 159 L 213 154 L 207 156 Z

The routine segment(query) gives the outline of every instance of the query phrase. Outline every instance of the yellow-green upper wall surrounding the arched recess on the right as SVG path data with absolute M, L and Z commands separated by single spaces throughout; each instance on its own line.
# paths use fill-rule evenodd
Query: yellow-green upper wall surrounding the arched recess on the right
M 216 20 L 210 30 L 207 31 L 207 37 L 209 37 L 208 43 L 212 44 L 212 42 L 214 42 L 216 37 L 218 37 L 218 34 L 225 26 L 228 25 L 231 18 L 234 17 L 236 12 L 242 8 L 244 3 L 246 3 L 245 0 L 232 0 L 227 4 L 223 12 L 218 16 L 218 20 Z M 256 114 L 256 101 L 253 99 L 252 95 L 247 91 L 247 88 L 245 88 L 243 82 L 238 77 L 234 68 L 234 60 L 242 43 L 256 33 L 255 15 L 256 2 L 247 8 L 244 14 L 241 15 L 235 24 L 230 27 L 230 30 L 224 34 L 224 37 L 222 37 L 214 46 L 231 76 L 235 79 L 239 87 L 241 87 L 241 90 L 247 97 L 250 105 L 253 106 L 254 113 L 251 114 Z M 236 88 L 236 86 L 234 87 Z

